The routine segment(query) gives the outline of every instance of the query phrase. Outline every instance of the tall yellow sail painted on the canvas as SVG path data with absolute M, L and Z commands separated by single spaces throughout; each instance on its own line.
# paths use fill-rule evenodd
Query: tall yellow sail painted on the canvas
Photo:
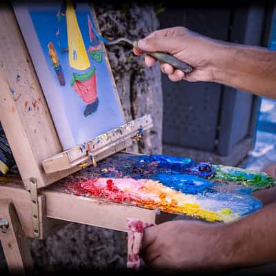
M 69 48 L 69 64 L 77 70 L 86 70 L 90 67 L 90 62 L 83 43 L 76 12 L 71 1 L 67 1 L 66 24 Z

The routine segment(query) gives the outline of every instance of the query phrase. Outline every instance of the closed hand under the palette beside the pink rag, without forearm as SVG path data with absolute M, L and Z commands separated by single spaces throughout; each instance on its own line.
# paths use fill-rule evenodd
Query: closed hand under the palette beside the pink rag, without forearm
M 144 230 L 141 257 L 157 270 L 219 270 L 226 264 L 225 226 L 201 221 L 168 221 Z

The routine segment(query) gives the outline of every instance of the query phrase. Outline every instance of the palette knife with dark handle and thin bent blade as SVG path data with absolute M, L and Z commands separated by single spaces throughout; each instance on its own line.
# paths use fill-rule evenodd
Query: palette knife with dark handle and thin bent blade
M 192 72 L 192 70 L 193 70 L 192 66 L 188 65 L 184 61 L 177 59 L 176 57 L 173 57 L 172 55 L 167 54 L 166 52 L 146 52 L 144 50 L 141 50 L 138 47 L 138 41 L 132 41 L 125 37 L 120 37 L 119 39 L 115 39 L 113 41 L 107 41 L 106 39 L 104 39 L 104 42 L 108 45 L 117 44 L 121 41 L 125 41 L 125 42 L 131 44 L 134 48 L 139 50 L 139 52 L 142 52 L 145 55 L 149 55 L 150 57 L 153 57 L 157 61 L 161 61 L 161 62 L 170 64 L 175 69 L 182 70 L 186 73 Z

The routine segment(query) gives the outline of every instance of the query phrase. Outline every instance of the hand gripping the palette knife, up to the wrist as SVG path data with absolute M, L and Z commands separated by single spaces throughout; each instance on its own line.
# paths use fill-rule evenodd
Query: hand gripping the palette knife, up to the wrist
M 196 32 L 191 32 L 184 27 L 167 28 L 152 32 L 144 39 L 138 41 L 141 50 L 148 52 L 168 52 L 184 61 L 194 70 L 184 73 L 175 70 L 168 63 L 161 63 L 161 71 L 168 75 L 171 81 L 213 81 L 215 59 L 219 59 L 217 50 L 222 44 L 215 39 L 208 39 Z M 137 49 L 133 49 L 135 55 L 141 55 Z M 155 59 L 146 55 L 147 66 L 153 66 Z

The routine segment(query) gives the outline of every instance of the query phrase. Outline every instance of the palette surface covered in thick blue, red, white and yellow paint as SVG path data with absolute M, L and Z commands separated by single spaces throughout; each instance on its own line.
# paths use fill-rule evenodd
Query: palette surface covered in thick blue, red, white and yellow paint
M 59 183 L 67 193 L 79 196 L 225 222 L 261 208 L 252 192 L 274 184 L 264 173 L 240 168 L 126 154 L 108 157 Z

